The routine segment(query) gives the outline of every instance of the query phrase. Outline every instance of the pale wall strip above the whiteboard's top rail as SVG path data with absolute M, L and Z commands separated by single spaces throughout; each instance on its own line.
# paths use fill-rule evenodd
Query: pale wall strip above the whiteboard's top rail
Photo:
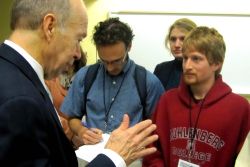
M 249 14 L 247 0 L 112 0 L 110 11 Z

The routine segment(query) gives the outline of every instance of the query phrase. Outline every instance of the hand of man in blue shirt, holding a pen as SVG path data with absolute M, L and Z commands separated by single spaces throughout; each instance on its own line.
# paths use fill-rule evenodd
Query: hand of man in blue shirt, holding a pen
M 96 144 L 102 140 L 102 130 L 97 128 L 88 129 L 82 127 L 82 130 L 78 136 L 81 137 L 84 144 Z

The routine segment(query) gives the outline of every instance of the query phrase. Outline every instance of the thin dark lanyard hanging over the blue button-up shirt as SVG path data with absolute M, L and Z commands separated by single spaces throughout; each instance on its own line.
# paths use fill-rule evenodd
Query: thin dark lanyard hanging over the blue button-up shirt
M 105 97 L 106 97 L 106 94 L 105 94 L 105 78 L 106 78 L 105 76 L 106 76 L 106 72 L 105 72 L 105 70 L 104 70 L 103 73 L 104 73 L 104 74 L 103 74 L 103 102 L 104 102 L 104 108 L 105 108 L 105 130 L 107 130 L 109 112 L 110 112 L 110 110 L 111 110 L 112 105 L 113 105 L 114 102 L 115 102 L 115 99 L 116 99 L 117 95 L 119 94 L 119 92 L 120 92 L 120 90 L 121 90 L 121 87 L 122 87 L 122 84 L 123 84 L 123 82 L 124 82 L 124 79 L 125 79 L 125 76 L 126 76 L 127 72 L 125 72 L 125 74 L 123 74 L 121 84 L 120 84 L 120 86 L 119 86 L 119 88 L 118 88 L 118 90 L 117 90 L 115 96 L 113 97 L 113 99 L 112 99 L 112 101 L 111 101 L 111 103 L 110 103 L 108 109 L 107 109 L 106 100 L 105 100 L 105 99 L 106 99 L 106 98 L 105 98 Z

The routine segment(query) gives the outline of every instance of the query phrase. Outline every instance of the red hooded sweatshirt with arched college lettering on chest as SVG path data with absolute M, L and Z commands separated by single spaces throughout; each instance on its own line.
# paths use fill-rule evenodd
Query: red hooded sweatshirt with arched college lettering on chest
M 165 92 L 153 115 L 158 151 L 143 160 L 144 167 L 177 167 L 179 159 L 201 167 L 233 167 L 249 131 L 250 105 L 232 93 L 221 76 L 203 101 L 194 102 L 183 83 Z M 193 149 L 190 152 L 192 132 Z

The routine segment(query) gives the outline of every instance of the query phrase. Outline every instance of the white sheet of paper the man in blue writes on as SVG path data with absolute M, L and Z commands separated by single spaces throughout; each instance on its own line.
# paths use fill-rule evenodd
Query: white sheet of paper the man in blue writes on
M 109 136 L 109 134 L 103 134 L 103 140 L 100 143 L 97 143 L 95 145 L 83 145 L 79 147 L 79 149 L 75 151 L 76 156 L 82 160 L 90 162 L 101 152 L 102 149 L 104 149 Z

